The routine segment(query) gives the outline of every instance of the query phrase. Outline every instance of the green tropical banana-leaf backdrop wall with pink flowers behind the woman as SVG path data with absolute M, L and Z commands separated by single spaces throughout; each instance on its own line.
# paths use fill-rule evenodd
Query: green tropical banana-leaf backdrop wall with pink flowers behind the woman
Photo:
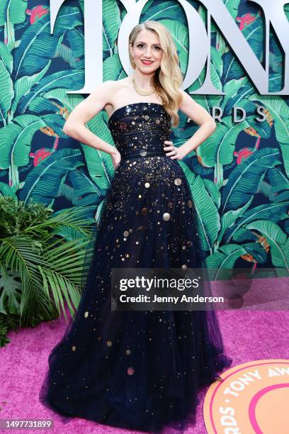
M 255 55 L 263 62 L 264 20 L 258 5 L 222 0 Z M 190 1 L 205 20 L 205 9 Z M 125 16 L 118 0 L 103 0 L 103 77 L 126 77 L 118 57 L 118 30 Z M 289 7 L 285 6 L 289 17 Z M 188 64 L 186 16 L 177 1 L 149 0 L 140 21 L 163 23 L 173 35 L 183 74 Z M 208 265 L 276 267 L 289 271 L 288 98 L 260 96 L 220 30 L 212 21 L 212 82 L 224 96 L 193 95 L 206 110 L 220 106 L 222 122 L 196 152 L 179 164 L 191 186 Z M 282 89 L 283 52 L 270 35 L 270 91 Z M 0 194 L 45 204 L 56 213 L 86 206 L 98 221 L 111 184 L 106 152 L 62 132 L 64 122 L 86 95 L 66 94 L 84 85 L 84 0 L 66 1 L 50 35 L 49 3 L 0 2 Z M 186 89 L 198 89 L 198 80 Z M 246 110 L 232 122 L 232 108 Z M 266 107 L 258 123 L 256 106 Z M 198 126 L 180 113 L 171 140 L 181 145 Z M 87 124 L 113 145 L 105 111 Z

